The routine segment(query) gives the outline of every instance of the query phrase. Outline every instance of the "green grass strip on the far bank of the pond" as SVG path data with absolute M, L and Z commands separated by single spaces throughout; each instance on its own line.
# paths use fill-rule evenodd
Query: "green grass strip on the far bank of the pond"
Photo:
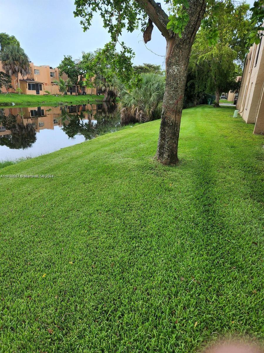
M 0 106 L 8 107 L 12 105 L 12 102 L 16 106 L 55 106 L 59 103 L 65 104 L 81 104 L 81 103 L 96 103 L 103 100 L 103 95 L 85 95 L 85 96 L 73 96 L 73 95 L 64 95 L 64 96 L 52 96 L 52 95 L 33 95 L 33 94 L 0 94 Z

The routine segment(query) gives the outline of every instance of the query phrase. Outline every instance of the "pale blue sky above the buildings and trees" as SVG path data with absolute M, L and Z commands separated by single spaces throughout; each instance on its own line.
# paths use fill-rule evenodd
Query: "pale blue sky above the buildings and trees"
M 253 5 L 254 0 L 247 2 Z M 82 51 L 103 48 L 110 39 L 99 14 L 95 14 L 90 29 L 83 32 L 74 10 L 74 0 L 0 0 L 0 32 L 14 35 L 35 65 L 56 67 L 63 55 L 79 59 Z M 124 32 L 121 38 L 134 50 L 135 65 L 150 62 L 164 67 L 166 42 L 155 26 L 146 46 L 140 30 Z

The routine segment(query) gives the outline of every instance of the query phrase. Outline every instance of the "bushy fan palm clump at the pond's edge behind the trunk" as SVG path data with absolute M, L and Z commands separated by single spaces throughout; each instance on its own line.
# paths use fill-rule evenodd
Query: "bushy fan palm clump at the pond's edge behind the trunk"
M 142 74 L 142 82 L 132 91 L 120 92 L 121 124 L 146 122 L 161 117 L 165 77 L 156 73 Z

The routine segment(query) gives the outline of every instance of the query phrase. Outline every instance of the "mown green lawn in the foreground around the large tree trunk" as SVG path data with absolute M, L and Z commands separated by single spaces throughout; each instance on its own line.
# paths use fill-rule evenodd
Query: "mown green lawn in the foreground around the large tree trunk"
M 1 169 L 1 352 L 197 352 L 263 332 L 263 137 L 231 108 L 160 121 Z

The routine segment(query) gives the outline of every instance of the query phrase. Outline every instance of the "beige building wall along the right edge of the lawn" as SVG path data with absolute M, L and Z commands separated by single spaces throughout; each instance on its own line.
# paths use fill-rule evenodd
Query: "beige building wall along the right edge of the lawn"
M 247 54 L 237 100 L 237 109 L 254 133 L 264 134 L 264 31 L 259 44 Z

